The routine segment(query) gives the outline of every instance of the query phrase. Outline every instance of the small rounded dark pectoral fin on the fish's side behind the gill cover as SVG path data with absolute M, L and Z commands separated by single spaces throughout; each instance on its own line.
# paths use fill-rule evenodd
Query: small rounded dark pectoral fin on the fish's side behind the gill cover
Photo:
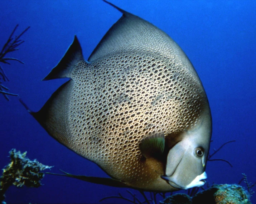
M 140 151 L 145 158 L 158 158 L 164 153 L 164 133 L 155 133 L 140 142 Z

